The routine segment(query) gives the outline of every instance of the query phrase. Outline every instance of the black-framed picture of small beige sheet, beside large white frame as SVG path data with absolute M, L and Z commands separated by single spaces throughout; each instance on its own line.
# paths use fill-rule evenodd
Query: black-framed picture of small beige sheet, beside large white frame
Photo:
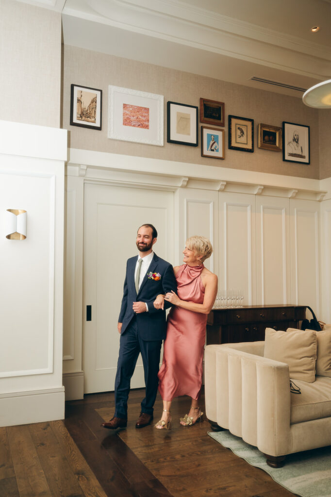
M 167 102 L 167 142 L 198 146 L 198 107 Z

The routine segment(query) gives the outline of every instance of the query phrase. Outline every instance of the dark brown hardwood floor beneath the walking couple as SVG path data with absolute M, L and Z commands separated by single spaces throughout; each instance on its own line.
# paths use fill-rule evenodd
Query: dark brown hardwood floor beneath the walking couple
M 0 497 L 294 495 L 213 440 L 207 421 L 180 426 L 186 397 L 172 403 L 171 430 L 136 429 L 142 397 L 143 390 L 130 393 L 120 431 L 101 426 L 113 415 L 113 393 L 67 402 L 64 421 L 0 428 Z M 161 411 L 158 396 L 155 422 Z

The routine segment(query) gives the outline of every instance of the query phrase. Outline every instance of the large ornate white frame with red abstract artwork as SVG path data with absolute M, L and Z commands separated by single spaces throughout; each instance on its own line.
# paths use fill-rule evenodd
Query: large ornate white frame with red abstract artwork
M 163 95 L 108 86 L 108 138 L 163 147 Z

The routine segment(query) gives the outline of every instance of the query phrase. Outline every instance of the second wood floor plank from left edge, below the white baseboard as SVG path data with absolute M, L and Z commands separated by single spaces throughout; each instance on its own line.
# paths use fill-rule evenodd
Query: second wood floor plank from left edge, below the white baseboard
M 28 425 L 8 426 L 9 447 L 20 497 L 52 497 Z

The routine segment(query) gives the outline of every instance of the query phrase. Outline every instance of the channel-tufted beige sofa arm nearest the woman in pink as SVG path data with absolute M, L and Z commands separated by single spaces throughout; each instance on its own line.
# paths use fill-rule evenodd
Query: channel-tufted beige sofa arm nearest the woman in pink
M 292 452 L 289 368 L 263 349 L 263 341 L 206 346 L 206 415 L 276 457 Z

